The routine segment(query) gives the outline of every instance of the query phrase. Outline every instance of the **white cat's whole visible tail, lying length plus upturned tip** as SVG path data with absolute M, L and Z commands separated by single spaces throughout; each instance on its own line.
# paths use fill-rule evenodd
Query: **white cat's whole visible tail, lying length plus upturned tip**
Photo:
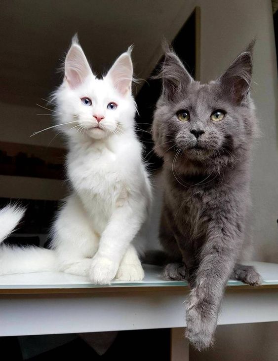
M 6 206 L 0 210 L 0 243 L 14 230 L 25 210 Z M 55 253 L 40 247 L 0 245 L 0 275 L 57 270 Z

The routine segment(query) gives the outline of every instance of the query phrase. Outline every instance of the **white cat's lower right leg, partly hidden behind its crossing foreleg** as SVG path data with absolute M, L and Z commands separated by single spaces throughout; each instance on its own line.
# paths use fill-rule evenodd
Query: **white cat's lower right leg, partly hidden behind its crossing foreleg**
M 144 270 L 133 245 L 129 245 L 119 264 L 115 277 L 119 281 L 142 281 Z

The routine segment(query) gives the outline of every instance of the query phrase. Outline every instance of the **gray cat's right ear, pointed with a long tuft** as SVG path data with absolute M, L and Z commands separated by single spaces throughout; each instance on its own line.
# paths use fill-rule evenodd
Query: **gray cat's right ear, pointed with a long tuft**
M 219 78 L 225 92 L 231 95 L 236 104 L 240 104 L 249 94 L 252 78 L 252 50 L 255 40 L 233 61 Z

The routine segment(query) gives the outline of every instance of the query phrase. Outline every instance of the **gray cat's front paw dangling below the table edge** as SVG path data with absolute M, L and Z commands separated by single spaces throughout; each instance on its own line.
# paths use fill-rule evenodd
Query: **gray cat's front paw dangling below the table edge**
M 217 316 L 210 305 L 192 297 L 186 312 L 186 337 L 199 351 L 213 344 L 213 334 L 217 324 Z

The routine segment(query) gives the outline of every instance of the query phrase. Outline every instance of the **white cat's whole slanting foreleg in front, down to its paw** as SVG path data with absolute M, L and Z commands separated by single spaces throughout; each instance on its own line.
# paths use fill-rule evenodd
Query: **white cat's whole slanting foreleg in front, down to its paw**
M 145 199 L 118 207 L 103 231 L 99 249 L 90 269 L 90 280 L 105 285 L 112 281 L 130 242 L 138 233 L 146 215 Z

